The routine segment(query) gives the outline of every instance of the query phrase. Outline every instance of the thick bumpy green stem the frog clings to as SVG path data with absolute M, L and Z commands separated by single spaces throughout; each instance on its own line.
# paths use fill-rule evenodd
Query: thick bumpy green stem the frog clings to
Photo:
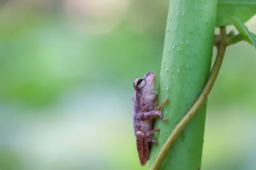
M 170 102 L 163 108 L 167 122 L 157 119 L 154 125 L 160 128 L 160 133 L 154 134 L 158 145 L 152 146 L 149 169 L 207 82 L 216 7 L 217 0 L 170 2 L 158 98 L 159 103 L 165 98 Z M 206 102 L 167 154 L 162 170 L 198 170 L 201 167 L 205 116 Z

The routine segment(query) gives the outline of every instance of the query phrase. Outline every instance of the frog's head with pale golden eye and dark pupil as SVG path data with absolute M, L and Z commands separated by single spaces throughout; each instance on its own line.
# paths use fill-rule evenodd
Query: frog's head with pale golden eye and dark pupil
M 143 78 L 137 78 L 134 80 L 134 89 L 140 91 L 143 95 L 154 94 L 156 87 L 156 75 L 153 71 L 145 74 Z

